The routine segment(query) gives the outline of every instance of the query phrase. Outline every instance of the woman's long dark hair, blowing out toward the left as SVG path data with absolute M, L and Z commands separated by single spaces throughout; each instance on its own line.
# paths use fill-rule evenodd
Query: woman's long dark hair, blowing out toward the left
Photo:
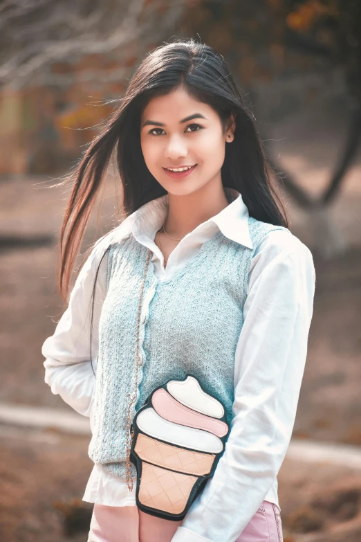
M 223 131 L 231 114 L 234 115 L 234 140 L 225 145 L 221 168 L 223 186 L 241 193 L 251 217 L 288 226 L 286 210 L 272 186 L 271 169 L 253 115 L 243 104 L 223 56 L 194 39 L 163 44 L 138 66 L 118 109 L 104 122 L 77 166 L 59 243 L 58 287 L 63 297 L 67 296 L 75 259 L 111 156 L 115 156 L 122 183 L 124 217 L 167 193 L 145 164 L 140 145 L 140 116 L 151 98 L 178 87 L 210 105 L 219 115 Z M 93 301 L 94 293 L 95 284 Z

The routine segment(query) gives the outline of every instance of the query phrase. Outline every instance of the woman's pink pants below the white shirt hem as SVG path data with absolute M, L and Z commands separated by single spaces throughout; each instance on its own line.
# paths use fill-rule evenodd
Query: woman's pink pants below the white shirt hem
M 95 504 L 87 542 L 170 542 L 179 525 L 136 506 Z M 236 542 L 283 542 L 279 507 L 263 500 Z

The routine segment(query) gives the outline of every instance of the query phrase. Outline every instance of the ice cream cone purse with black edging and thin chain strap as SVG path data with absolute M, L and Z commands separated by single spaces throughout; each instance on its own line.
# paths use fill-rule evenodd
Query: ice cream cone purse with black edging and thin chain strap
M 138 305 L 138 323 L 143 276 Z M 127 484 L 133 487 L 132 462 L 137 471 L 136 503 L 142 512 L 169 520 L 181 520 L 192 502 L 213 476 L 230 432 L 224 405 L 207 393 L 192 374 L 183 380 L 169 380 L 149 395 L 130 420 L 131 404 L 136 400 L 138 373 L 138 337 L 136 350 L 136 386 L 128 394 Z

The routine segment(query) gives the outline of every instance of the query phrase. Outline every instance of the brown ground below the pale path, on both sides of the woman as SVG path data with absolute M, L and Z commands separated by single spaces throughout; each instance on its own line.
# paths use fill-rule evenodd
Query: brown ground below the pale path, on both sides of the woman
M 0 438 L 0 540 L 86 542 L 89 439 L 4 426 Z M 360 542 L 361 471 L 286 459 L 278 480 L 284 542 Z

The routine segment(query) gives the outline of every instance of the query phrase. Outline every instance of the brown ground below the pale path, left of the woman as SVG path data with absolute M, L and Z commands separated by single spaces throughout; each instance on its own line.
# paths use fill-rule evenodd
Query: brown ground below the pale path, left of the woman
M 86 542 L 88 440 L 6 427 L 0 435 L 0 540 Z

